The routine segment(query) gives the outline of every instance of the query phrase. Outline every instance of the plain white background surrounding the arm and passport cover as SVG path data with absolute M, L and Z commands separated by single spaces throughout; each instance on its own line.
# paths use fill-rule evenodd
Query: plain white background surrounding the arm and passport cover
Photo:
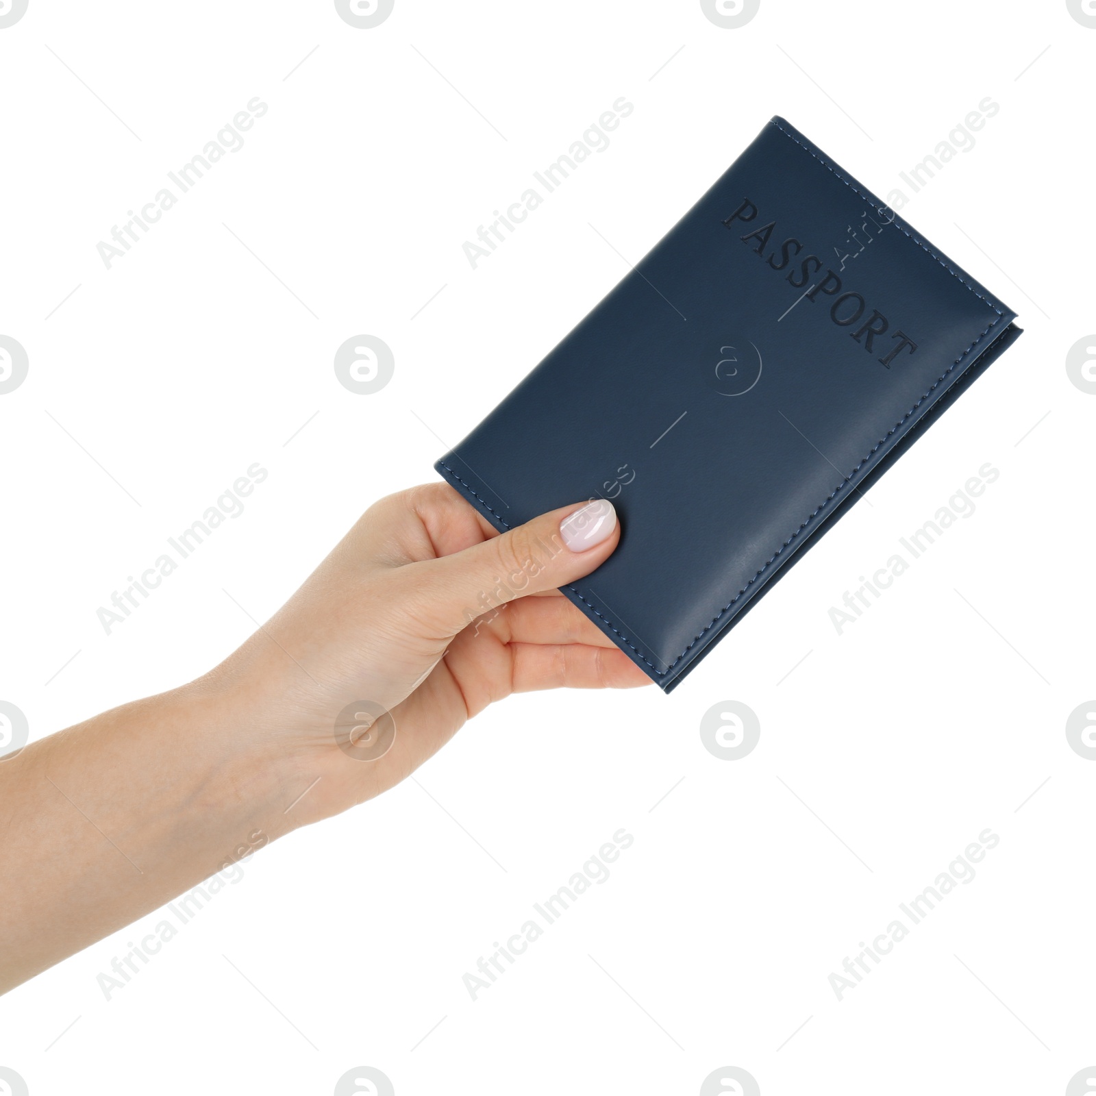
M 998 103 L 901 212 L 1026 333 L 672 697 L 488 710 L 249 859 L 112 1000 L 96 975 L 163 914 L 0 1000 L 0 1065 L 32 1096 L 329 1094 L 356 1065 L 400 1096 L 690 1094 L 723 1065 L 766 1096 L 1063 1093 L 1096 1060 L 1096 763 L 1064 734 L 1096 694 L 1096 397 L 1064 366 L 1096 329 L 1094 48 L 1059 0 L 762 0 L 739 30 L 686 0 L 397 0 L 374 30 L 31 0 L 0 30 L 0 333 L 30 357 L 0 396 L 0 699 L 32 738 L 224 658 L 252 627 L 225 591 L 272 614 L 627 272 L 591 225 L 635 262 L 773 114 L 886 197 Z M 106 270 L 253 96 L 244 147 Z M 610 146 L 473 271 L 464 241 L 618 96 Z M 357 333 L 396 357 L 373 396 L 332 367 Z M 105 635 L 254 461 L 246 512 Z M 838 636 L 830 607 L 986 461 L 977 512 Z M 700 742 L 723 700 L 761 720 L 741 761 Z M 472 1002 L 465 972 L 620 827 L 612 878 Z M 977 878 L 838 1002 L 831 972 L 986 827 Z

